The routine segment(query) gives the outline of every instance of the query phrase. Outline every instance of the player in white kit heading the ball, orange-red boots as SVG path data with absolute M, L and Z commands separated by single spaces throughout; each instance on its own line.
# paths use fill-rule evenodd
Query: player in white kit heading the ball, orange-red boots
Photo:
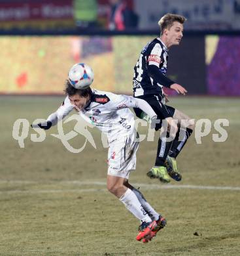
M 90 87 L 75 89 L 69 81 L 66 82 L 65 93 L 67 96 L 60 108 L 48 116 L 44 123 L 32 126 L 49 129 L 75 109 L 85 120 L 106 133 L 109 142 L 107 189 L 141 221 L 136 239 L 150 241 L 166 225 L 166 221 L 146 202 L 143 194 L 128 182 L 129 172 L 136 167 L 139 146 L 134 116 L 129 108 L 140 108 L 148 114 L 153 128 L 156 113 L 145 100 Z

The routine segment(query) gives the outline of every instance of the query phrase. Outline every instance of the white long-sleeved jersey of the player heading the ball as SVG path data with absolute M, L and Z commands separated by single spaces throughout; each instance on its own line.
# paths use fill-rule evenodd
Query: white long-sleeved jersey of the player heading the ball
M 141 108 L 148 116 L 156 116 L 150 105 L 145 100 L 133 98 L 133 96 L 115 95 L 105 91 L 93 89 L 90 102 L 79 114 L 88 123 L 95 125 L 108 136 L 131 134 L 134 129 L 134 116 L 129 108 Z M 59 119 L 64 118 L 73 110 L 67 96 L 60 108 L 50 115 L 47 121 L 56 125 Z

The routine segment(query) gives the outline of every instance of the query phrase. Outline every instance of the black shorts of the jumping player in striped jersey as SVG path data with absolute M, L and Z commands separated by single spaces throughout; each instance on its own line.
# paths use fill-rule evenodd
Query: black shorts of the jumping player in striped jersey
M 163 120 L 167 117 L 173 117 L 175 108 L 171 106 L 167 106 L 163 104 L 162 96 L 161 95 L 142 95 L 137 96 L 136 98 L 141 98 L 143 100 L 146 100 L 148 104 L 152 107 L 154 112 L 158 115 L 158 119 Z M 143 111 L 139 108 L 133 108 L 135 114 L 137 117 L 141 118 Z M 161 126 L 161 123 L 160 123 Z M 160 127 L 158 127 L 159 129 Z

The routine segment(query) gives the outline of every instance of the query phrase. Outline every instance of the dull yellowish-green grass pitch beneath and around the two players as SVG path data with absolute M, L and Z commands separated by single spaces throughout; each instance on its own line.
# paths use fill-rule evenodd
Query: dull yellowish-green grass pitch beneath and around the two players
M 25 148 L 12 138 L 16 119 L 31 123 L 45 118 L 61 102 L 59 97 L 0 97 L 0 255 L 240 254 L 239 98 L 171 98 L 171 106 L 188 116 L 212 122 L 202 144 L 196 144 L 192 135 L 180 154 L 181 182 L 162 185 L 148 179 L 157 139 L 141 142 L 137 170 L 129 181 L 140 186 L 168 221 L 148 244 L 135 240 L 138 221 L 105 188 L 107 148 L 97 129 L 90 129 L 97 149 L 87 143 L 79 154 L 68 152 L 50 135 L 57 133 L 56 127 L 38 143 L 31 141 L 35 131 L 29 129 Z M 230 120 L 226 142 L 212 139 L 213 123 L 219 118 Z M 74 125 L 65 124 L 65 133 Z M 84 141 L 79 135 L 71 145 L 79 148 Z

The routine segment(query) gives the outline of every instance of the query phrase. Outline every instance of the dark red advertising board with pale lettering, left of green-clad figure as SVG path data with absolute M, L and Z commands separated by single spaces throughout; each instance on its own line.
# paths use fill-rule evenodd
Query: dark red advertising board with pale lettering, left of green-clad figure
M 44 30 L 73 26 L 73 3 L 69 0 L 0 2 L 1 29 Z

